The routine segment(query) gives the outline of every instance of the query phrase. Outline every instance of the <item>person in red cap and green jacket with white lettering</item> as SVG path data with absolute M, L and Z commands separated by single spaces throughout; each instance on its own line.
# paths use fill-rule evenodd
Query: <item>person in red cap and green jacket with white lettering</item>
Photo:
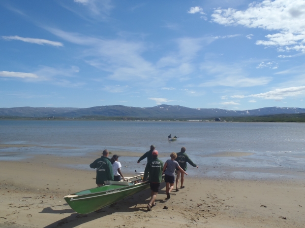
M 147 211 L 151 211 L 151 207 L 156 206 L 155 200 L 157 198 L 159 187 L 162 181 L 163 162 L 158 159 L 158 151 L 154 150 L 152 153 L 153 159 L 146 164 L 143 180 L 148 176 L 149 186 L 151 189 L 151 199 L 147 205 Z

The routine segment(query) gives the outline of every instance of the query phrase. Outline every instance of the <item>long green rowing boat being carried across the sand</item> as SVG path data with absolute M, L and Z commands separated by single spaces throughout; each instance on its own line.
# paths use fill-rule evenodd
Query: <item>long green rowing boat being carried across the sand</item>
M 143 175 L 126 178 L 127 181 L 108 180 L 103 186 L 68 195 L 64 199 L 75 212 L 88 214 L 147 189 L 148 181 L 142 182 L 141 179 L 129 181 Z

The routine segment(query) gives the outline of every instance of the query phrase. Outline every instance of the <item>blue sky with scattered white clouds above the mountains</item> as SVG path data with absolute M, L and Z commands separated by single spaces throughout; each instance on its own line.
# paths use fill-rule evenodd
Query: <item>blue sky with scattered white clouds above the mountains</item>
M 0 2 L 0 107 L 305 108 L 303 0 Z

